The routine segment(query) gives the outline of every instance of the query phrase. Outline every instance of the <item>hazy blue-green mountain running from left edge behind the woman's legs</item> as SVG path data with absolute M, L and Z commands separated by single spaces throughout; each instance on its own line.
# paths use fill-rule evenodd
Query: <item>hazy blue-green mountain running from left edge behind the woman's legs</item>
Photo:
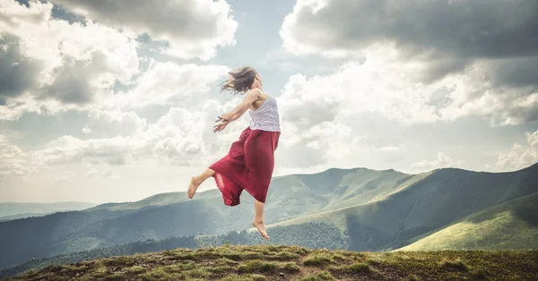
M 330 178 L 328 182 L 351 184 L 351 188 L 359 188 L 353 185 L 353 179 L 359 175 L 369 180 L 405 176 L 394 171 L 379 172 L 362 168 L 331 169 L 320 174 L 312 176 L 326 176 Z M 332 188 L 335 192 L 320 192 L 323 190 L 321 185 L 312 185 L 310 188 L 308 177 L 289 175 L 274 178 L 268 194 L 265 223 L 313 213 L 334 204 L 332 194 L 341 192 L 338 186 Z M 384 191 L 379 189 L 379 192 Z M 345 190 L 344 194 L 347 196 Z M 146 239 L 245 230 L 251 227 L 253 205 L 252 198 L 244 192 L 239 206 L 224 206 L 221 192 L 214 189 L 198 192 L 193 200 L 187 199 L 186 192 L 171 192 L 137 202 L 103 204 L 82 211 L 7 221 L 0 223 L 0 246 L 10 254 L 0 256 L 0 268 L 32 258 Z

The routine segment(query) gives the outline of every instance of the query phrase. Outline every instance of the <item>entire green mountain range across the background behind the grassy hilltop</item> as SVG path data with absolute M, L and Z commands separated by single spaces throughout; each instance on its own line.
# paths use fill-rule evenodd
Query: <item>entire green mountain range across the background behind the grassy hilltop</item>
M 352 251 L 535 249 L 528 239 L 538 233 L 536 192 L 538 164 L 511 173 L 445 168 L 419 175 L 334 168 L 275 177 L 265 223 L 271 235 L 276 226 L 325 222 L 340 230 Z M 247 192 L 234 208 L 223 205 L 218 190 L 198 192 L 193 200 L 172 192 L 1 222 L 0 248 L 7 254 L 0 268 L 148 239 L 247 230 L 253 204 Z M 517 235 L 507 233 L 512 226 Z M 296 235 L 308 235 L 306 229 Z

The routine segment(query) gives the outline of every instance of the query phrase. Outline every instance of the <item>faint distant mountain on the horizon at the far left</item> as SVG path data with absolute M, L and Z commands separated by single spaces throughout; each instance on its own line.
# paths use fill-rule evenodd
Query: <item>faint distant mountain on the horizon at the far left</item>
M 20 216 L 17 218 L 45 216 L 50 213 L 66 210 L 82 210 L 96 206 L 95 203 L 88 202 L 56 202 L 56 203 L 0 203 L 0 220 L 8 217 Z M 12 218 L 9 218 L 12 219 Z

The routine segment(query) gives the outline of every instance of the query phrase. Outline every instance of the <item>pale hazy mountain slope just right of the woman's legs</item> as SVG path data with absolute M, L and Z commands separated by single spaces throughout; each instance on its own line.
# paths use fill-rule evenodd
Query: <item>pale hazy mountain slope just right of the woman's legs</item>
M 410 177 L 394 170 L 366 168 L 275 177 L 265 207 L 266 223 L 384 198 Z

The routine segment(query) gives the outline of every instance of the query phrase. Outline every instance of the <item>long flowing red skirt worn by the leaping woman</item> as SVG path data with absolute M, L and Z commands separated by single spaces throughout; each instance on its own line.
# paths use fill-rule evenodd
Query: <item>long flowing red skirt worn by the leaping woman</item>
M 265 203 L 273 177 L 274 150 L 278 147 L 280 134 L 247 127 L 241 132 L 239 140 L 231 144 L 228 154 L 209 166 L 215 171 L 213 178 L 221 190 L 225 205 L 239 205 L 243 190 Z

